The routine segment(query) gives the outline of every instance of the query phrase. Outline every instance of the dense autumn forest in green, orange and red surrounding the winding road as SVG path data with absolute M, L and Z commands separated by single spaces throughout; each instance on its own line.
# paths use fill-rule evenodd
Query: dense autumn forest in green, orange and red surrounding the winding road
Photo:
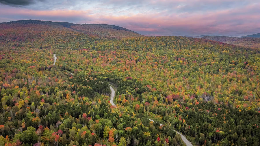
M 0 23 L 0 145 L 260 145 L 259 49 L 89 27 Z

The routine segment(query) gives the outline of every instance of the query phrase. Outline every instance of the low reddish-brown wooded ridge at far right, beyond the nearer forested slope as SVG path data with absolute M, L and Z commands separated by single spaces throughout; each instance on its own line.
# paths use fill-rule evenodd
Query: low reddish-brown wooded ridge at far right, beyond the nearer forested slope
M 205 36 L 202 37 L 205 40 L 214 40 L 227 44 L 233 44 L 237 46 L 244 46 L 249 48 L 260 48 L 260 38 L 236 38 L 226 36 Z

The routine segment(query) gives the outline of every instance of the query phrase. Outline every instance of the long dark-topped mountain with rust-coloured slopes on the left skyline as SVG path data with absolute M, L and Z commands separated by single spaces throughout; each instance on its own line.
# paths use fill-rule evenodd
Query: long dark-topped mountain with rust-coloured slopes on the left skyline
M 139 33 L 129 29 L 107 24 L 73 24 L 68 22 L 52 22 L 41 20 L 18 20 L 0 23 L 1 29 L 19 29 L 21 31 L 77 31 L 90 36 L 102 38 L 141 37 Z

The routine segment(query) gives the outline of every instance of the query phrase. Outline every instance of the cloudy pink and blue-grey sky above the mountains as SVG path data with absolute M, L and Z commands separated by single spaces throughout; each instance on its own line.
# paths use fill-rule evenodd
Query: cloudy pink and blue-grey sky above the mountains
M 146 36 L 260 33 L 260 0 L 0 0 L 0 22 L 110 24 Z

